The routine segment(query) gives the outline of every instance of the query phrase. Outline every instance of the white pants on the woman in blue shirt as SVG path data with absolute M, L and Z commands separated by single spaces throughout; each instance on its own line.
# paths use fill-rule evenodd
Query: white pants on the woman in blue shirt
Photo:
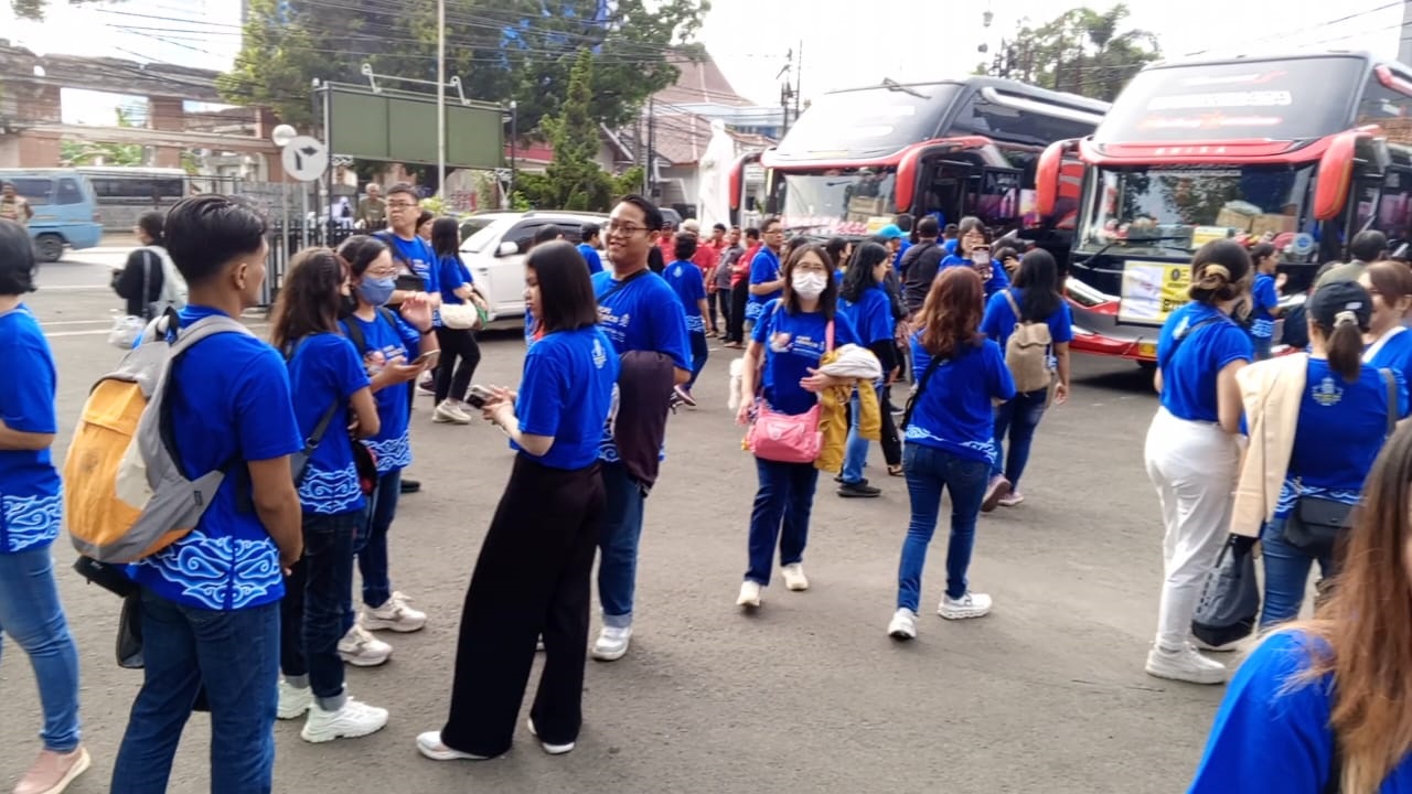
M 1156 644 L 1179 650 L 1192 633 L 1206 574 L 1230 531 L 1240 444 L 1219 425 L 1158 408 L 1142 452 L 1166 527 Z

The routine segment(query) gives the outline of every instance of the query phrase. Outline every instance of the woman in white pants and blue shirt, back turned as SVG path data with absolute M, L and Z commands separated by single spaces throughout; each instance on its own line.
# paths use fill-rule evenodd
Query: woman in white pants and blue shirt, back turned
M 1231 311 L 1250 297 L 1250 256 L 1231 240 L 1202 246 L 1192 259 L 1192 302 L 1166 318 L 1156 346 L 1161 407 L 1144 459 L 1162 504 L 1163 582 L 1158 632 L 1147 671 L 1158 678 L 1220 684 L 1226 665 L 1187 641 L 1202 582 L 1231 519 L 1240 466 L 1241 400 L 1236 373 L 1254 359 Z

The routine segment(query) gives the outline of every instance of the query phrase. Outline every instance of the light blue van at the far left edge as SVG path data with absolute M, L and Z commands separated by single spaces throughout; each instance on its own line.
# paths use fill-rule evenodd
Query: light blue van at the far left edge
M 92 249 L 103 239 L 97 195 L 88 177 L 73 168 L 0 168 L 34 211 L 30 237 L 40 261 L 58 261 L 64 246 Z

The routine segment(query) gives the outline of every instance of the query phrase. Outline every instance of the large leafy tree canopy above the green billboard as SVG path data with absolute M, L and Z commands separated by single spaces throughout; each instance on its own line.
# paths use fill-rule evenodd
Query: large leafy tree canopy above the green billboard
M 244 47 L 220 90 L 229 102 L 264 105 L 294 124 L 313 122 L 313 79 L 363 83 L 360 66 L 422 81 L 436 78 L 436 25 L 431 3 L 390 13 L 387 3 L 251 0 Z M 446 73 L 466 95 L 514 100 L 520 129 L 535 131 L 559 112 L 580 49 L 594 62 L 589 116 L 609 126 L 631 120 L 652 93 L 672 85 L 675 52 L 710 8 L 707 0 L 617 0 L 596 21 L 599 0 L 448 0 Z

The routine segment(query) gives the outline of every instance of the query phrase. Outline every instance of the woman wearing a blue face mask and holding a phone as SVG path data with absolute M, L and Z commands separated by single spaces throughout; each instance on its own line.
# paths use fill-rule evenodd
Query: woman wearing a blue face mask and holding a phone
M 371 520 L 357 547 L 359 572 L 363 578 L 363 617 L 353 620 L 352 603 L 346 610 L 347 633 L 339 641 L 343 660 L 357 667 L 376 667 L 387 661 L 393 647 L 369 634 L 369 629 L 417 632 L 426 624 L 426 615 L 408 606 L 407 596 L 393 591 L 388 578 L 387 533 L 397 516 L 402 469 L 412 462 L 408 439 L 408 400 L 405 384 L 435 366 L 438 350 L 432 329 L 432 307 L 425 295 L 402 301 L 398 312 L 387 308 L 397 283 L 397 264 L 385 243 L 374 237 L 349 237 L 339 246 L 339 256 L 349 263 L 352 311 L 339 324 L 340 331 L 363 359 L 374 383 L 377 415 L 381 428 L 363 444 L 377 458 L 377 489 L 373 492 Z M 425 356 L 425 357 L 422 357 Z M 414 360 L 415 357 L 415 360 Z M 391 374 L 385 374 L 387 372 Z M 381 389 L 377 387 L 381 384 Z

